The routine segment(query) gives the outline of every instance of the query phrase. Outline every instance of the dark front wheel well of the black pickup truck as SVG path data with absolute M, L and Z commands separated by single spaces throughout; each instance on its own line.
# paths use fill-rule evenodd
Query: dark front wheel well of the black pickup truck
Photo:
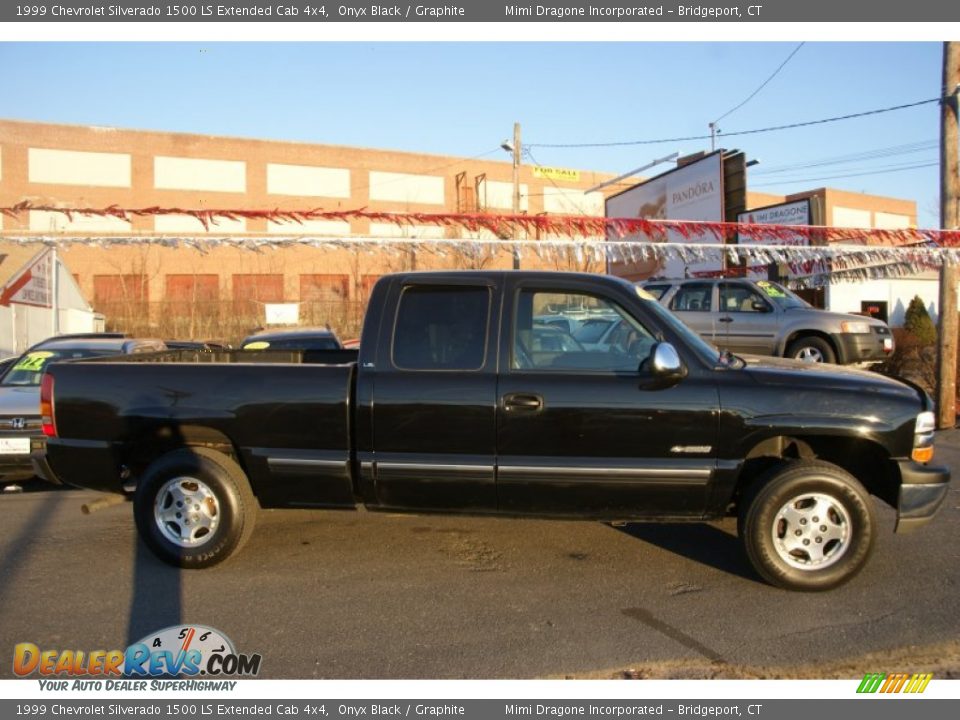
M 898 482 L 882 445 L 853 437 L 786 436 L 767 438 L 746 455 L 734 502 L 774 466 L 789 460 L 824 460 L 843 468 L 887 504 L 896 507 Z

